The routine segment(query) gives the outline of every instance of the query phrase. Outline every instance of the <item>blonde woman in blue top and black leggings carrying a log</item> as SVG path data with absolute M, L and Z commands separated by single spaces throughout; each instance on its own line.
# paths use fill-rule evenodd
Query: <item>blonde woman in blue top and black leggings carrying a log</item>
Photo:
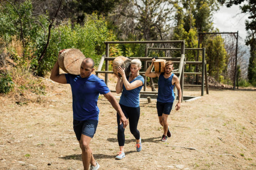
M 137 129 L 138 120 L 140 117 L 140 100 L 139 93 L 144 83 L 144 78 L 139 74 L 141 69 L 141 60 L 133 59 L 131 60 L 131 74 L 128 77 L 125 76 L 125 68 L 118 67 L 117 71 L 120 73 L 121 77 L 118 77 L 118 82 L 115 86 L 116 93 L 122 92 L 120 97 L 119 105 L 130 123 L 130 131 L 136 138 L 136 150 L 141 151 L 141 138 L 140 132 Z M 119 120 L 119 115 L 117 114 L 117 120 Z M 115 157 L 116 159 L 125 158 L 124 153 L 124 143 L 125 143 L 125 129 L 123 124 L 118 123 L 118 145 L 120 147 L 120 152 Z

